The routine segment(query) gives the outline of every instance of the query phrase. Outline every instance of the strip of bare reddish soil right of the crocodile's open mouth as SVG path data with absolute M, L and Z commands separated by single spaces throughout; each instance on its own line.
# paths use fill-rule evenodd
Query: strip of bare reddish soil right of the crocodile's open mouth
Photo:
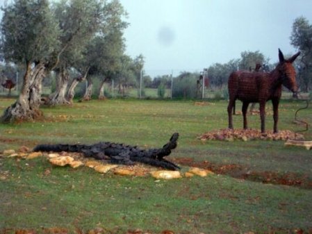
M 295 173 L 278 174 L 277 172 L 255 172 L 247 167 L 236 164 L 216 165 L 208 161 L 194 161 L 192 158 L 175 158 L 174 162 L 188 167 L 199 167 L 208 169 L 215 174 L 224 174 L 233 178 L 240 178 L 261 183 L 272 183 L 276 185 L 296 186 L 305 189 L 312 189 L 312 180 L 308 176 Z

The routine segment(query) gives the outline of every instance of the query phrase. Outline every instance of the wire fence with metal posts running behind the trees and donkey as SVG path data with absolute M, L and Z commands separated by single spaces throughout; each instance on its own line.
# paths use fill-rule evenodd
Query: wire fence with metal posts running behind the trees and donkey
M 22 88 L 22 75 L 17 73 L 10 80 L 15 83 L 11 90 L 0 85 L 2 97 L 17 97 Z M 148 78 L 147 78 L 148 77 Z M 152 78 L 151 78 L 152 77 Z M 1 84 L 6 78 L 1 79 Z M 55 79 L 53 76 L 44 78 L 42 82 L 42 95 L 48 96 L 55 91 Z M 208 74 L 205 70 L 192 69 L 187 72 L 174 69 L 147 70 L 141 72 L 136 82 L 121 83 L 111 80 L 104 84 L 104 92 L 99 93 L 101 77 L 92 78 L 92 99 L 106 98 L 133 98 L 133 99 L 228 99 L 227 85 L 219 87 L 211 86 Z M 75 99 L 80 99 L 88 86 L 87 81 L 77 85 Z M 284 97 L 290 97 L 290 93 L 284 93 Z

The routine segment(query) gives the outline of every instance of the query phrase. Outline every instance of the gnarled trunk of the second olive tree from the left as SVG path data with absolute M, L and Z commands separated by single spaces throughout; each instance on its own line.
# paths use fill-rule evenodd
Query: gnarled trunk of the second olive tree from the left
M 50 94 L 47 104 L 51 106 L 68 105 L 65 94 L 67 92 L 67 85 L 69 81 L 69 74 L 66 67 L 61 67 L 60 72 L 56 76 L 56 91 Z

